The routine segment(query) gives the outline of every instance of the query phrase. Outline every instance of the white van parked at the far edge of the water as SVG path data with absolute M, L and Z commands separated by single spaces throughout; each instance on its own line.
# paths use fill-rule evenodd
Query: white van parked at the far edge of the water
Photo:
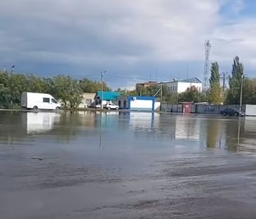
M 50 94 L 23 92 L 21 106 L 27 109 L 58 110 L 60 104 Z

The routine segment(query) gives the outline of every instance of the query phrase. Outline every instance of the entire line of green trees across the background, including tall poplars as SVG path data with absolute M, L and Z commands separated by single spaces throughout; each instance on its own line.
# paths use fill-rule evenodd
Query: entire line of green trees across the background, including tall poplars
M 121 96 L 154 96 L 161 97 L 163 103 L 177 104 L 182 101 L 209 102 L 211 104 L 239 104 L 241 82 L 243 78 L 243 104 L 256 104 L 256 79 L 250 79 L 243 73 L 243 64 L 239 57 L 234 58 L 229 87 L 222 87 L 220 68 L 213 62 L 210 68 L 209 89 L 202 93 L 196 87 L 188 87 L 185 92 L 173 94 L 166 85 L 159 92 L 159 85 L 142 87 L 136 85 L 135 90 L 116 90 Z M 0 108 L 20 106 L 22 92 L 40 92 L 51 94 L 56 99 L 61 99 L 65 107 L 75 108 L 83 99 L 83 92 L 97 92 L 101 90 L 101 83 L 88 78 L 76 80 L 71 76 L 55 76 L 41 78 L 33 74 L 8 73 L 0 71 Z M 103 90 L 111 89 L 103 83 Z M 161 96 L 162 94 L 162 96 Z

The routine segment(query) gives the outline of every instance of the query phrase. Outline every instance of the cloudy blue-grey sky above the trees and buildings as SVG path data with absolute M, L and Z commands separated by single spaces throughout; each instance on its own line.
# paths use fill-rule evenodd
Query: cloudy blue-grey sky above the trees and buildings
M 203 78 L 210 62 L 231 71 L 238 55 L 256 77 L 254 0 L 1 0 L 1 66 L 69 74 L 131 88 L 142 80 Z

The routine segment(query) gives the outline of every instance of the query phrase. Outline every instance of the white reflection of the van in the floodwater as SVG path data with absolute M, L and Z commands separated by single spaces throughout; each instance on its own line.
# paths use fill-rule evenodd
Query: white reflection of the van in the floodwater
M 52 112 L 26 113 L 27 133 L 46 132 L 60 121 L 60 114 Z

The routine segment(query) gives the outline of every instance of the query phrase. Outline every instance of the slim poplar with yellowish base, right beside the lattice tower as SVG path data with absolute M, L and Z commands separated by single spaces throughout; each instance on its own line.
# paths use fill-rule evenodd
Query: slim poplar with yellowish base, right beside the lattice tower
M 220 72 L 217 62 L 213 62 L 210 69 L 210 90 L 208 92 L 208 101 L 213 104 L 220 104 L 222 102 Z

